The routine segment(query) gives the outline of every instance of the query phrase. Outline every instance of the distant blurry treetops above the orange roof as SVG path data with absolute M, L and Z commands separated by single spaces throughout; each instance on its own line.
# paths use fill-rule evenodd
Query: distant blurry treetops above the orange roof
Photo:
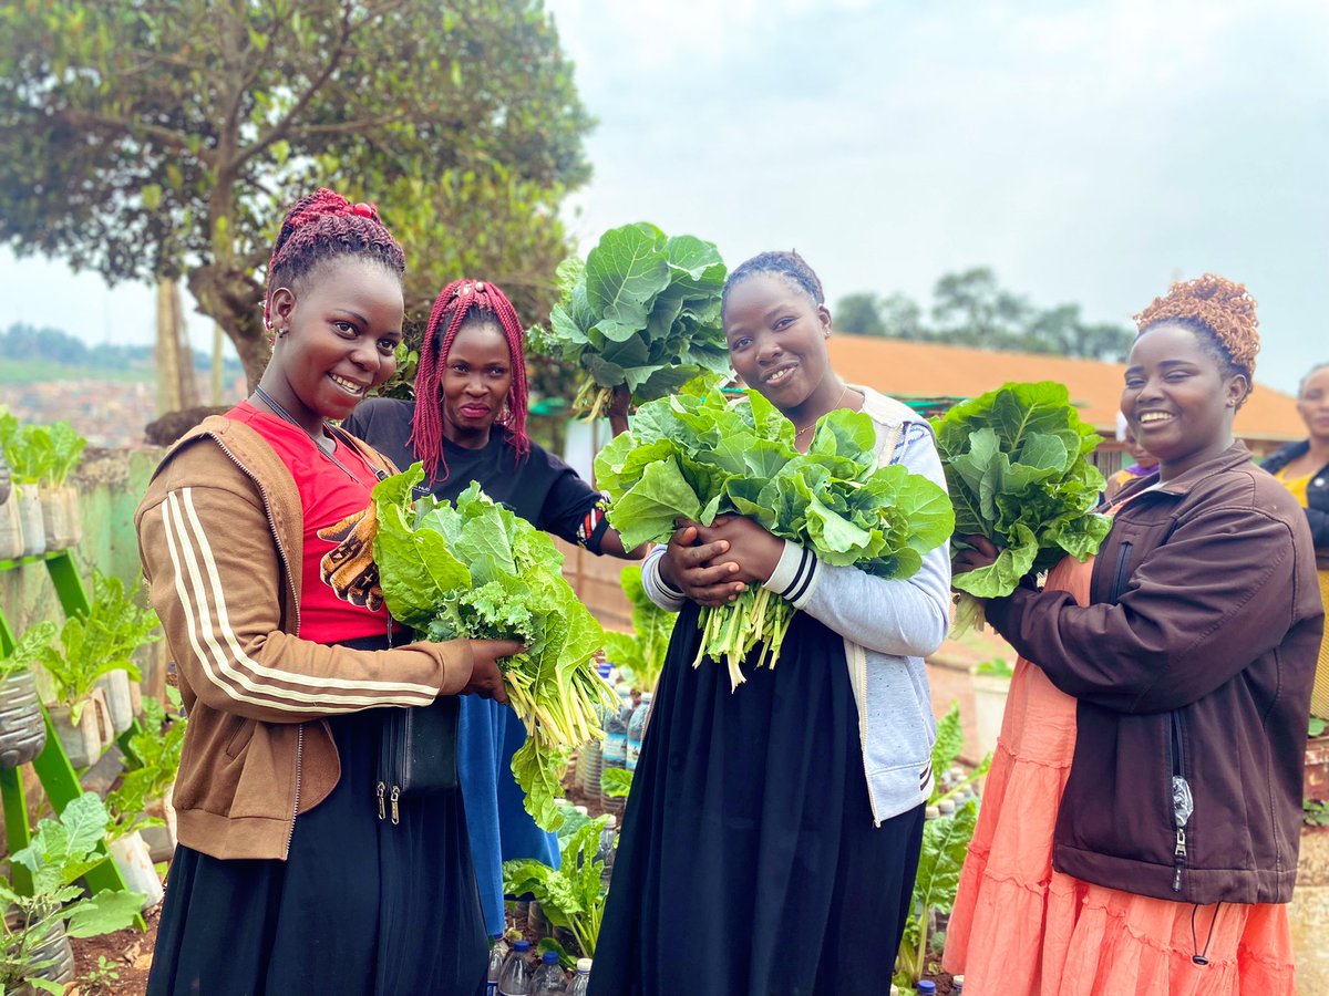
M 1002 288 L 987 267 L 938 279 L 930 316 L 925 321 L 924 308 L 902 293 L 853 293 L 836 305 L 835 324 L 844 332 L 889 339 L 1091 360 L 1123 360 L 1135 339 L 1120 325 L 1086 321 L 1078 304 L 1035 307 Z

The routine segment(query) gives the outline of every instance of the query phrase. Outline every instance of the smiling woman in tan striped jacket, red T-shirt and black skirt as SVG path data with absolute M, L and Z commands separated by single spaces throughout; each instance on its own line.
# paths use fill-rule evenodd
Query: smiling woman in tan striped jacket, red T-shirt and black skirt
M 392 374 L 401 271 L 372 206 L 298 202 L 268 266 L 259 386 L 171 449 L 138 509 L 189 710 L 154 996 L 484 984 L 460 793 L 388 821 L 376 765 L 396 709 L 501 700 L 494 660 L 520 647 L 396 633 L 372 558 L 391 463 L 330 425 Z

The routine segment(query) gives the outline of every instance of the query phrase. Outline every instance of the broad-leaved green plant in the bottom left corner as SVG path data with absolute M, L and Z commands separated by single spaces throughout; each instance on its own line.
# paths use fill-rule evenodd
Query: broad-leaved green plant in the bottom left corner
M 47 992 L 60 993 L 64 987 L 32 977 L 51 964 L 33 960 L 33 952 L 58 923 L 70 938 L 92 938 L 124 930 L 142 908 L 137 892 L 102 890 L 84 895 L 74 882 L 105 861 L 98 846 L 106 834 L 106 807 L 94 793 L 73 799 L 56 819 L 37 823 L 32 842 L 11 855 L 32 875 L 32 895 L 21 895 L 0 879 L 0 902 L 12 910 L 4 920 L 0 939 L 0 991 L 28 981 Z

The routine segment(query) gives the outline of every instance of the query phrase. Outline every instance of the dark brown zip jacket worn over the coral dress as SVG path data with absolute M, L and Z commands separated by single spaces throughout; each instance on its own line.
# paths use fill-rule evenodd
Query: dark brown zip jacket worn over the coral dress
M 1160 899 L 1285 903 L 1324 625 L 1306 517 L 1241 444 L 1156 482 L 1123 493 L 1087 607 L 1025 588 L 987 606 L 1079 700 L 1053 863 Z

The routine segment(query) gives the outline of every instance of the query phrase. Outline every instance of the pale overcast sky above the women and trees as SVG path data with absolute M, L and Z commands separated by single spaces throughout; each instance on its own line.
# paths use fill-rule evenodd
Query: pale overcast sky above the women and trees
M 1257 381 L 1329 360 L 1322 0 L 548 0 L 599 126 L 585 251 L 651 220 L 832 303 L 990 266 L 1126 323 L 1205 270 L 1260 301 Z M 0 323 L 146 343 L 148 288 L 0 250 Z M 198 345 L 206 325 L 193 323 Z

